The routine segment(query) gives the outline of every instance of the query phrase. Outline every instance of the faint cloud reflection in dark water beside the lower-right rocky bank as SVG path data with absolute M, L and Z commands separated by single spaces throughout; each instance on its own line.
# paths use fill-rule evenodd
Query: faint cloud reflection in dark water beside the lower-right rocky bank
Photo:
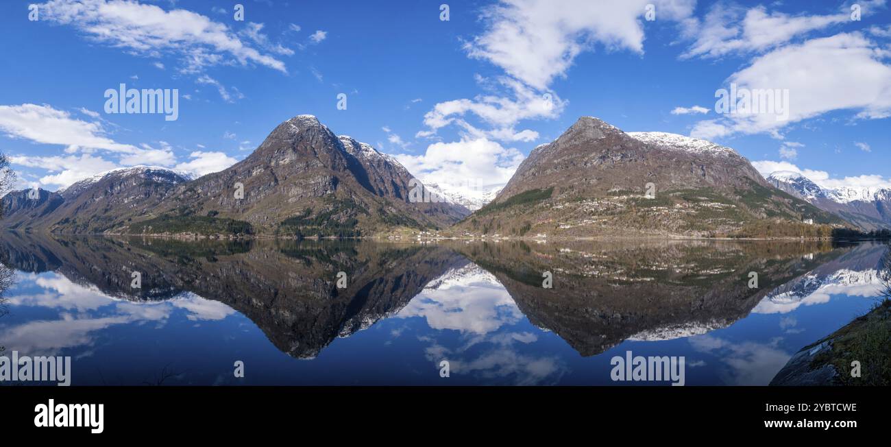
M 715 355 L 728 367 L 725 381 L 730 385 L 767 385 L 792 356 L 778 347 L 781 338 L 774 338 L 768 344 L 732 343 L 710 335 L 689 340 L 693 349 Z

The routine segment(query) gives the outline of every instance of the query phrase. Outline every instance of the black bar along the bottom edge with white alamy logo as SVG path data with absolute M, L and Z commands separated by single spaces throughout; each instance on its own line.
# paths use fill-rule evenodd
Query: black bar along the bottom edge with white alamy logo
M 4 427 L 34 436 L 143 441 L 176 433 L 292 434 L 344 427 L 391 431 L 511 427 L 698 430 L 764 436 L 887 433 L 887 388 L 875 387 L 0 387 Z M 39 404 L 103 404 L 102 434 L 88 427 L 35 427 Z M 770 407 L 769 407 L 770 405 Z M 804 427 L 765 427 L 790 420 Z M 766 421 L 766 422 L 765 422 Z M 830 421 L 856 427 L 807 427 Z M 547 425 L 545 425 L 547 424 Z M 494 426 L 494 427 L 493 427 Z M 329 430 L 330 428 L 326 428 Z M 549 428 L 552 429 L 552 428 Z M 367 435 L 367 432 L 365 433 Z

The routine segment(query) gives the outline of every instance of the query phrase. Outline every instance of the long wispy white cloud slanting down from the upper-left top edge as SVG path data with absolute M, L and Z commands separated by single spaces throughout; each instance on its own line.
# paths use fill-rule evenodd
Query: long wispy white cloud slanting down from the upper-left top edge
M 40 20 L 70 25 L 94 41 L 147 57 L 181 56 L 185 72 L 238 62 L 286 73 L 284 62 L 239 39 L 225 24 L 184 9 L 123 0 L 52 0 L 40 5 Z

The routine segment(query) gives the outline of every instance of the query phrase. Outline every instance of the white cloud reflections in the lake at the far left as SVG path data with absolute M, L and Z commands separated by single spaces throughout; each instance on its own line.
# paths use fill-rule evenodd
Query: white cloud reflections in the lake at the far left
M 112 326 L 168 321 L 176 309 L 183 309 L 192 321 L 222 320 L 233 309 L 217 301 L 184 293 L 168 301 L 129 302 L 84 287 L 57 273 L 36 278 L 22 277 L 44 290 L 32 295 L 10 297 L 12 306 L 62 309 L 59 320 L 28 321 L 20 325 L 0 325 L 0 339 L 8 350 L 28 355 L 57 355 L 61 349 L 93 346 L 95 333 Z M 89 311 L 102 309 L 102 315 Z

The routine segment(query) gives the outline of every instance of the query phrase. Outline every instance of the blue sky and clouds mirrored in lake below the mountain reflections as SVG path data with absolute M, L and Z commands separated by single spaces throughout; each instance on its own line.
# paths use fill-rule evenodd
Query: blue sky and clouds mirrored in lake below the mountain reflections
M 154 383 L 164 370 L 175 374 L 171 385 L 613 385 L 609 359 L 626 350 L 685 356 L 688 385 L 765 385 L 802 346 L 865 313 L 879 290 L 869 269 L 798 282 L 806 293 L 772 294 L 730 327 L 649 330 L 582 357 L 531 324 L 495 276 L 467 264 L 371 328 L 298 360 L 241 313 L 192 293 L 132 302 L 56 272 L 19 272 L 5 293 L 11 313 L 0 319 L 0 345 L 6 354 L 72 356 L 75 385 Z M 233 378 L 238 360 L 243 380 Z M 450 378 L 439 378 L 442 360 Z

